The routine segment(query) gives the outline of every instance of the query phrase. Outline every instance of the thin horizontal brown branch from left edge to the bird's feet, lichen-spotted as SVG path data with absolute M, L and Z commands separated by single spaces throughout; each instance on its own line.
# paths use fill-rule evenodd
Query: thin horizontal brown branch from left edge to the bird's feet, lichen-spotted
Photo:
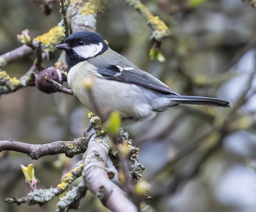
M 74 157 L 77 154 L 84 153 L 87 148 L 86 138 L 79 138 L 73 141 L 55 141 L 48 144 L 28 144 L 18 141 L 0 141 L 0 152 L 15 151 L 28 154 L 31 159 L 39 159 L 46 155 L 57 155 L 65 153 L 66 157 Z

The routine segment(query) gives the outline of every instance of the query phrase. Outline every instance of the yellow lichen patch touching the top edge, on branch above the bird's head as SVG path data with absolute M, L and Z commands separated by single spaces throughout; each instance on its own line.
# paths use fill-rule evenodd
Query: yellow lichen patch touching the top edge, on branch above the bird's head
M 79 10 L 83 15 L 96 15 L 104 12 L 106 0 L 90 0 L 86 2 Z

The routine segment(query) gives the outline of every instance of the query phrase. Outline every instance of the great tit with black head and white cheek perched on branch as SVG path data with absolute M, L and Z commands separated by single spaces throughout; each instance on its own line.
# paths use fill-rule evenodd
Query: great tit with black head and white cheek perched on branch
M 67 81 L 74 95 L 92 112 L 95 103 L 102 113 L 118 111 L 123 126 L 151 119 L 175 105 L 231 107 L 221 99 L 179 95 L 111 50 L 97 33 L 76 32 L 56 48 L 66 51 Z M 88 81 L 94 101 L 88 95 Z

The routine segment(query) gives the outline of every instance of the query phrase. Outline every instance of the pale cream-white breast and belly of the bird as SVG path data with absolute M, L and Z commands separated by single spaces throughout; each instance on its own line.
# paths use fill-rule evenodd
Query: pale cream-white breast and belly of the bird
M 77 65 L 85 64 L 82 62 Z M 86 67 L 88 67 L 87 70 L 92 69 L 88 63 Z M 144 99 L 145 97 L 138 86 L 102 79 L 95 72 L 82 72 L 81 70 L 81 67 L 70 69 L 68 84 L 82 104 L 90 111 L 95 112 L 95 106 L 88 95 L 88 89 L 90 89 L 94 102 L 102 113 L 108 115 L 112 111 L 118 111 L 122 119 L 133 119 L 133 121 L 155 116 L 155 112 Z M 90 88 L 88 88 L 88 84 L 91 85 Z

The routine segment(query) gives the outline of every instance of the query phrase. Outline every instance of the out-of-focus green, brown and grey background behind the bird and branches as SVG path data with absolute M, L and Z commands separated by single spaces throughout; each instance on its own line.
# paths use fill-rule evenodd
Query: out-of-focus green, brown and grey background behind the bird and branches
M 146 200 L 156 211 L 256 211 L 256 11 L 241 0 L 143 0 L 160 16 L 172 35 L 162 41 L 165 61 L 150 60 L 151 30 L 125 1 L 112 0 L 97 17 L 97 31 L 116 52 L 162 80 L 182 95 L 231 101 L 232 109 L 179 105 L 150 121 L 125 129 L 140 148 L 146 166 L 143 180 L 151 186 Z M 30 36 L 48 32 L 61 19 L 59 5 L 45 16 L 40 3 L 0 0 L 0 55 Z M 60 51 L 45 66 L 54 65 Z M 4 67 L 20 77 L 34 56 Z M 64 83 L 64 86 L 68 86 Z M 45 94 L 26 87 L 0 97 L 0 140 L 49 143 L 82 137 L 88 110 L 74 96 Z M 58 198 L 40 206 L 8 205 L 7 197 L 26 196 L 20 164 L 35 164 L 38 188 L 56 187 L 62 174 L 80 159 L 0 153 L 0 211 L 54 211 Z M 116 180 L 117 181 L 117 180 Z M 76 182 L 74 182 L 76 184 Z M 81 211 L 108 211 L 89 192 Z

